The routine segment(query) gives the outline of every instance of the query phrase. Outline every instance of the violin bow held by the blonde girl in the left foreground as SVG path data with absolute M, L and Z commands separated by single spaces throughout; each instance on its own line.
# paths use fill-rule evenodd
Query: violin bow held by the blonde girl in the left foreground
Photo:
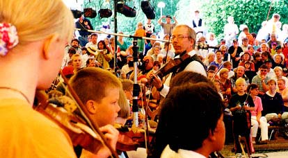
M 115 152 L 115 150 L 113 150 L 113 148 L 110 146 L 110 144 L 106 141 L 104 134 L 99 130 L 99 125 L 97 125 L 97 123 L 92 123 L 90 120 L 92 120 L 92 118 L 88 114 L 88 110 L 84 107 L 82 101 L 80 100 L 79 96 L 77 95 L 77 93 L 74 91 L 74 89 L 71 87 L 71 85 L 69 84 L 69 81 L 67 80 L 67 78 L 65 77 L 65 75 L 63 74 L 63 71 L 60 71 L 61 76 L 64 80 L 64 82 L 67 84 L 67 89 L 68 89 L 68 93 L 70 93 L 70 96 L 72 99 L 74 99 L 76 101 L 76 105 L 79 109 L 79 111 L 81 112 L 81 115 L 83 116 L 83 118 L 87 121 L 88 125 L 90 126 L 90 128 L 92 128 L 92 130 L 94 132 L 96 132 L 97 134 L 99 134 L 99 136 L 101 137 L 102 141 L 104 142 L 104 145 L 109 148 L 109 150 L 111 151 L 113 157 L 115 158 L 119 158 L 118 153 Z

